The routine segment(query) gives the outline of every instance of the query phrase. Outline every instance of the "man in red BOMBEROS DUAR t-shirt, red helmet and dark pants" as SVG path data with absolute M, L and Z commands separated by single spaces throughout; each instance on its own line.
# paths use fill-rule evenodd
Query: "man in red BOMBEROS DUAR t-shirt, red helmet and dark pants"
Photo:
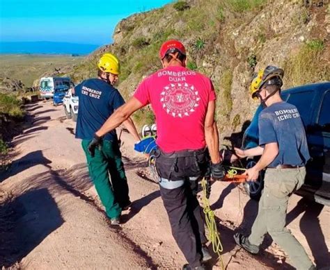
M 210 254 L 205 248 L 207 239 L 196 192 L 210 159 L 212 178 L 223 178 L 214 121 L 216 96 L 210 78 L 186 68 L 181 42 L 164 42 L 159 57 L 163 69 L 146 78 L 132 98 L 111 115 L 95 133 L 90 149 L 93 151 L 102 136 L 133 112 L 151 104 L 157 124 L 156 168 L 173 237 L 189 262 L 184 269 L 204 269 L 202 262 L 210 259 Z

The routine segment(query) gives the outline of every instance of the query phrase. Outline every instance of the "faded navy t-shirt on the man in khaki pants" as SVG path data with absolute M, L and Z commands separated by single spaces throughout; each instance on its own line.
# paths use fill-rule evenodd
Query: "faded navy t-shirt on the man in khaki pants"
M 268 167 L 277 165 L 304 166 L 311 158 L 304 124 L 296 106 L 278 102 L 260 112 L 259 145 L 277 142 L 278 155 Z

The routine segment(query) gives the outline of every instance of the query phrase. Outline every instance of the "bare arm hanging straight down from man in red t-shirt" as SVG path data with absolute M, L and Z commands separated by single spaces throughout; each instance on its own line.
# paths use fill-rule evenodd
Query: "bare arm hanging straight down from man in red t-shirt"
M 219 155 L 219 135 L 217 123 L 214 121 L 215 101 L 210 101 L 207 105 L 205 117 L 205 141 L 209 149 L 211 161 L 213 164 L 221 161 Z

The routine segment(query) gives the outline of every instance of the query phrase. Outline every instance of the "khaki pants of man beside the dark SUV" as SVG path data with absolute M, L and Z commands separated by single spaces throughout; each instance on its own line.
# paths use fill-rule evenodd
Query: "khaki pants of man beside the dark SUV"
M 289 255 L 292 265 L 307 270 L 313 264 L 306 251 L 285 228 L 288 200 L 292 192 L 304 184 L 305 167 L 295 169 L 267 169 L 265 188 L 259 202 L 258 216 L 254 221 L 249 242 L 260 246 L 266 233 Z

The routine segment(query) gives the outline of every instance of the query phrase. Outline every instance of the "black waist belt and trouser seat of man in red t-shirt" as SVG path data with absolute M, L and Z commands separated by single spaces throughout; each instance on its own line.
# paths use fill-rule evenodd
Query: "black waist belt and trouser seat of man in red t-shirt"
M 210 155 L 206 148 L 171 153 L 157 149 L 154 155 L 158 175 L 171 181 L 204 176 L 210 162 Z

